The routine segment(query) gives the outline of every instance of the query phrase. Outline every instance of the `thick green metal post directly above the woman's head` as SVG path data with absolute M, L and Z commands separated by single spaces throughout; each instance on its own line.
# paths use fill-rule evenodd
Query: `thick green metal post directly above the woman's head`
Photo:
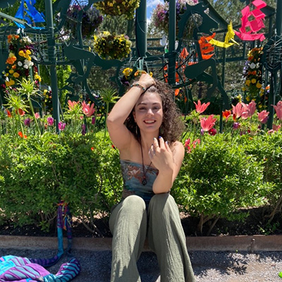
M 136 10 L 136 51 L 137 56 L 145 57 L 147 52 L 147 2 L 140 1 Z

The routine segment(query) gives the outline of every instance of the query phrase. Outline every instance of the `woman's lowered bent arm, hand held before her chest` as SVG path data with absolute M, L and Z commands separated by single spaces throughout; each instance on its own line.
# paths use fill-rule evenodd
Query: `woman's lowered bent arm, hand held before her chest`
M 154 166 L 159 169 L 159 174 L 154 180 L 153 192 L 166 193 L 171 190 L 174 180 L 180 171 L 184 158 L 184 147 L 180 142 L 175 142 L 172 151 L 162 137 L 154 139 L 149 151 L 149 157 Z

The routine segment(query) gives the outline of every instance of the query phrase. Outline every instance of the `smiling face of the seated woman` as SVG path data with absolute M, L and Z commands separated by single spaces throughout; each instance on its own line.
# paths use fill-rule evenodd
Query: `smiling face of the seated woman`
M 163 107 L 159 94 L 156 92 L 142 94 L 135 104 L 133 117 L 140 130 L 145 132 L 159 130 L 163 121 Z

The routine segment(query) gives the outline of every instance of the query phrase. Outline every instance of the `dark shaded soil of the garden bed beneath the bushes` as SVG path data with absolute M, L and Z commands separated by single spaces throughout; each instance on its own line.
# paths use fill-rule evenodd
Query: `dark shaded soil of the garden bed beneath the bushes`
M 226 219 L 219 219 L 216 226 L 214 226 L 212 236 L 220 235 L 278 235 L 282 234 L 282 217 L 277 214 L 274 220 L 269 225 L 266 225 L 265 219 L 263 218 L 265 207 L 256 207 L 250 209 L 242 209 L 240 212 L 249 212 L 249 216 L 245 221 L 228 221 Z M 197 223 L 199 219 L 188 216 L 187 214 L 181 213 L 181 222 L 186 236 L 196 236 Z M 208 222 L 203 228 L 203 234 L 207 235 L 207 231 L 212 222 Z M 102 233 L 103 237 L 111 237 L 109 231 L 109 224 L 107 219 L 97 219 L 95 225 Z M 25 236 L 42 236 L 42 237 L 55 237 L 56 228 L 53 226 L 50 230 L 42 231 L 40 227 L 35 225 L 25 225 L 23 227 L 13 228 L 12 223 L 6 223 L 0 226 L 1 235 L 25 235 Z M 92 233 L 87 231 L 85 226 L 78 219 L 73 219 L 73 237 L 101 237 L 98 233 Z

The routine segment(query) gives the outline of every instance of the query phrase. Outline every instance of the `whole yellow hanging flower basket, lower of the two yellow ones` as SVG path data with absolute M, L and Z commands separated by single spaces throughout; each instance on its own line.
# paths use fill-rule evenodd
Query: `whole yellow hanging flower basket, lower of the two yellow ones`
M 102 59 L 124 59 L 130 54 L 131 42 L 126 35 L 111 35 L 103 32 L 94 35 L 94 51 Z

